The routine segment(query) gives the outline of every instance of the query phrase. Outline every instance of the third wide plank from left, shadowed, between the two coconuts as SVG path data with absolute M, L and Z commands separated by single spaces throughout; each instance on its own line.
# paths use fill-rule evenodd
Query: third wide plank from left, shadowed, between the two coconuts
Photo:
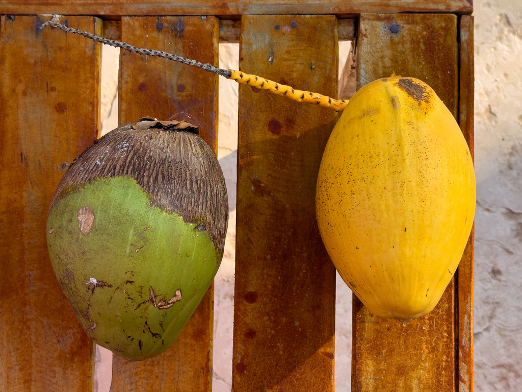
M 337 95 L 334 16 L 243 16 L 240 68 Z M 241 85 L 233 389 L 333 391 L 335 269 L 315 186 L 337 114 Z

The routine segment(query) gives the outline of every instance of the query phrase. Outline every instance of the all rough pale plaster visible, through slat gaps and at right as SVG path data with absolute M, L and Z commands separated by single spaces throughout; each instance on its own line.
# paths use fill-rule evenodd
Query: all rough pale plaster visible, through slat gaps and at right
M 522 390 L 522 1 L 475 0 L 475 388 Z M 340 45 L 340 67 L 349 46 Z M 102 132 L 117 125 L 117 49 L 104 46 Z M 238 67 L 238 45 L 220 66 Z M 320 92 L 320 91 L 319 91 Z M 231 390 L 238 85 L 220 79 L 218 158 L 230 224 L 215 280 L 213 390 Z M 95 391 L 108 392 L 112 353 L 97 351 Z M 351 292 L 337 279 L 336 390 L 350 390 Z

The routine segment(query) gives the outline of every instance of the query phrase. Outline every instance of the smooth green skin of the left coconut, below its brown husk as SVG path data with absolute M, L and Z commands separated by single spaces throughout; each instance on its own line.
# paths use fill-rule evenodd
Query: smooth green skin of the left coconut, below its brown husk
M 94 215 L 87 235 L 78 221 L 82 207 Z M 199 227 L 153 205 L 126 176 L 93 180 L 51 207 L 47 240 L 53 269 L 92 340 L 129 361 L 170 347 L 223 256 Z M 161 309 L 176 290 L 181 299 Z

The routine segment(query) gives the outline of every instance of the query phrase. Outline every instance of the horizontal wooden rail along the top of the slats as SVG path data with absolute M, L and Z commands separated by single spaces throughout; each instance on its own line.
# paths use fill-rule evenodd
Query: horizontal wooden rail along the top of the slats
M 0 0 L 0 14 L 271 15 L 452 12 L 471 14 L 473 0 Z

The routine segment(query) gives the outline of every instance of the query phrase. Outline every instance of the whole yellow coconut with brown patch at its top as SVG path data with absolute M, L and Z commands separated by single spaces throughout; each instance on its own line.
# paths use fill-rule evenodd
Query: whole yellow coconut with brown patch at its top
M 430 86 L 366 85 L 331 133 L 316 213 L 342 279 L 377 316 L 429 313 L 452 279 L 475 211 L 468 145 Z

